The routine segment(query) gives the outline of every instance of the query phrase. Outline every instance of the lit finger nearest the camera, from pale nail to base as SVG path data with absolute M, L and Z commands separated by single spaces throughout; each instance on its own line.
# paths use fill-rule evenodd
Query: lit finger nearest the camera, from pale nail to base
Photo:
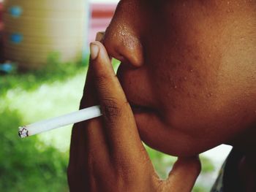
M 133 154 L 143 145 L 132 110 L 113 70 L 105 47 L 100 42 L 91 43 L 91 68 L 101 105 L 108 139 L 113 150 L 127 150 Z M 141 150 L 141 148 L 139 149 Z

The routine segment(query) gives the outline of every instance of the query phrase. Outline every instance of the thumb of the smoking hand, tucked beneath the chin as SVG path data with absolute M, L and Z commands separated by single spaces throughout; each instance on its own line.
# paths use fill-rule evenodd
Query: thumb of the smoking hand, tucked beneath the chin
M 165 180 L 165 187 L 170 191 L 192 191 L 195 181 L 200 174 L 201 164 L 198 156 L 191 158 L 178 158 Z

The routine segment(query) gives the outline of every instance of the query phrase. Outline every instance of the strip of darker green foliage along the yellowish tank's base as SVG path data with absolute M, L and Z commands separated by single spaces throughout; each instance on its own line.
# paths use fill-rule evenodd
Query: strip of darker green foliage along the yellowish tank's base
M 27 70 L 26 72 L 16 71 L 9 75 L 0 76 L 0 96 L 11 88 L 33 91 L 42 83 L 66 80 L 67 77 L 77 74 L 87 63 L 88 58 L 86 61 L 63 63 L 60 61 L 59 53 L 51 53 L 47 63 L 41 69 Z

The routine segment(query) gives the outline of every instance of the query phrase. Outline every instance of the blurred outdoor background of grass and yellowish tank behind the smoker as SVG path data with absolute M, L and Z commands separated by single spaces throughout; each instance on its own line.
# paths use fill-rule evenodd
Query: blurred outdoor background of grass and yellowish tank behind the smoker
M 69 191 L 72 126 L 18 138 L 18 126 L 78 110 L 89 42 L 117 0 L 0 1 L 0 191 Z M 113 60 L 115 69 L 118 61 Z M 163 179 L 176 161 L 146 146 Z M 230 146 L 200 155 L 194 192 L 210 191 Z

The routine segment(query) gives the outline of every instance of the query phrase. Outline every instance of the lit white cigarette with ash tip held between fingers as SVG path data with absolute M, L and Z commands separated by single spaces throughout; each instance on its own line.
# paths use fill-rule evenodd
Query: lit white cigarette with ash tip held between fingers
M 39 134 L 45 131 L 50 131 L 54 128 L 59 128 L 62 126 L 67 126 L 73 123 L 78 123 L 83 120 L 89 120 L 92 118 L 97 118 L 102 115 L 100 107 L 93 106 L 88 107 L 77 112 L 72 112 L 67 115 L 61 115 L 57 118 L 50 118 L 47 120 L 41 120 L 37 123 L 32 123 L 27 126 L 20 126 L 18 129 L 18 135 L 21 138 L 29 137 L 34 134 Z

